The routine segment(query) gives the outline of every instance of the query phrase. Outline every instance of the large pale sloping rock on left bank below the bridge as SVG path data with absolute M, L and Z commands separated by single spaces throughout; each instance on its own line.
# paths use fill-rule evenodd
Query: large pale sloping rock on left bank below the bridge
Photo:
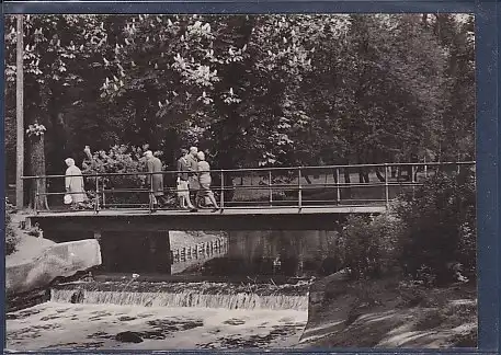
M 95 239 L 54 244 L 39 256 L 7 266 L 5 290 L 12 295 L 44 287 L 56 277 L 68 277 L 101 263 L 101 249 Z

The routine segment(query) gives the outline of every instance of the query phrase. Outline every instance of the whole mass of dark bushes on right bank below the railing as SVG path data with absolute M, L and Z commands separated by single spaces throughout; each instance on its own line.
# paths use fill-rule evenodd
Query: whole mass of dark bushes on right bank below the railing
M 430 178 L 387 215 L 350 217 L 335 252 L 357 279 L 396 271 L 426 284 L 475 279 L 475 191 L 470 170 Z

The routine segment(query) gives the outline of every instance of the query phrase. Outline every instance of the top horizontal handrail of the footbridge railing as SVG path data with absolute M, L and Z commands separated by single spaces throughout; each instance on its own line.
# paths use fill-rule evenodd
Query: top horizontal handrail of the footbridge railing
M 318 165 L 318 167 L 291 167 L 291 168 L 243 168 L 243 169 L 215 169 L 207 171 L 198 172 L 209 172 L 209 173 L 225 173 L 225 172 L 273 172 L 273 171 L 297 171 L 297 170 L 331 170 L 331 169 L 355 169 L 355 168 L 384 168 L 384 167 L 435 167 L 435 165 L 475 165 L 476 161 L 462 161 L 462 162 L 426 162 L 426 163 L 376 163 L 376 164 L 355 164 L 355 165 Z M 197 173 L 198 173 L 197 172 Z M 186 171 L 162 171 L 162 172 L 127 172 L 127 173 L 92 173 L 92 174 L 81 174 L 81 175 L 71 175 L 73 178 L 102 178 L 102 176 L 137 176 L 137 175 L 172 175 L 178 173 L 186 173 Z M 33 180 L 33 179 L 55 179 L 55 178 L 66 178 L 66 174 L 57 175 L 32 175 L 32 176 L 21 176 L 23 180 Z

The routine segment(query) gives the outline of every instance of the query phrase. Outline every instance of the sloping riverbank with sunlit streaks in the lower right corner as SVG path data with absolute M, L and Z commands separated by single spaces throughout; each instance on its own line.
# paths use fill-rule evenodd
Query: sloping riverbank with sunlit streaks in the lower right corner
M 346 282 L 332 275 L 310 289 L 301 348 L 477 346 L 477 289 L 411 285 L 399 278 Z

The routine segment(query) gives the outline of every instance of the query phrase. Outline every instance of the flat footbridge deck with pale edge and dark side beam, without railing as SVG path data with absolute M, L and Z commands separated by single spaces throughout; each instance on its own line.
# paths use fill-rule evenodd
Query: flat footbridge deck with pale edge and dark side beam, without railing
M 316 230 L 332 229 L 350 214 L 382 214 L 385 206 L 231 208 L 198 210 L 47 211 L 31 215 L 45 231 L 162 231 L 162 230 Z

